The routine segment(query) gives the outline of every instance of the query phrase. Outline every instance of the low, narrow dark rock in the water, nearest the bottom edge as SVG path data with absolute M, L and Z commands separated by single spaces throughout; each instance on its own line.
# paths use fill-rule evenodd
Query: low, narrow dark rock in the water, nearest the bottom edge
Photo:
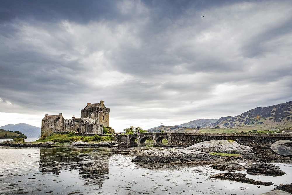
M 255 184 L 255 185 L 264 185 L 264 186 L 270 186 L 270 185 L 274 184 L 272 182 L 255 181 L 255 180 L 247 178 L 245 174 L 234 173 L 234 172 L 218 173 L 218 174 L 212 175 L 211 177 L 212 178 L 217 178 L 217 179 L 220 179 L 220 180 L 230 180 L 230 181 L 236 181 L 236 182 L 242 182 L 242 183 L 248 183 L 248 184 Z

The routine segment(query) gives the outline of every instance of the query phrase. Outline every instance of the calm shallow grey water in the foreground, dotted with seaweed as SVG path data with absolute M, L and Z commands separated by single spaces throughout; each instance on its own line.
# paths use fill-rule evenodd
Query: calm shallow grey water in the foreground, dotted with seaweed
M 132 163 L 135 155 L 107 148 L 0 147 L 0 157 L 0 194 L 260 194 L 275 187 L 211 179 L 224 171 L 208 165 Z M 276 165 L 287 174 L 248 177 L 290 184 L 292 165 Z

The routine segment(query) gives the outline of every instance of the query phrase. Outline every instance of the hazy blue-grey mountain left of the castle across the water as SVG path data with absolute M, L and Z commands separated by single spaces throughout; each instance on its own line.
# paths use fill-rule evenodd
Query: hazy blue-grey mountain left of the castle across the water
M 23 134 L 25 134 L 27 138 L 36 138 L 41 133 L 40 127 L 35 127 L 35 126 L 28 125 L 25 123 L 18 123 L 15 125 L 9 124 L 9 125 L 2 126 L 0 128 L 6 131 L 20 131 Z

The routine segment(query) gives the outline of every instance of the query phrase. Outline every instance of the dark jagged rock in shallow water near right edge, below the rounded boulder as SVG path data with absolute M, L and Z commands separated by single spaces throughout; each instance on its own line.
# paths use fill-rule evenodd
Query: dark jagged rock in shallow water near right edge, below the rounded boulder
M 247 173 L 251 175 L 271 175 L 280 176 L 286 173 L 281 171 L 279 167 L 267 163 L 255 163 L 247 169 Z

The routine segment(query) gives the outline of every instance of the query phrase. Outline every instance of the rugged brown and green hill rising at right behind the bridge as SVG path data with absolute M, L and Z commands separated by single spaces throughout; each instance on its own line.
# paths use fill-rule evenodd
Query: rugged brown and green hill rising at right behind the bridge
M 292 126 L 292 101 L 268 107 L 257 107 L 237 116 L 221 117 L 208 128 L 283 129 Z

